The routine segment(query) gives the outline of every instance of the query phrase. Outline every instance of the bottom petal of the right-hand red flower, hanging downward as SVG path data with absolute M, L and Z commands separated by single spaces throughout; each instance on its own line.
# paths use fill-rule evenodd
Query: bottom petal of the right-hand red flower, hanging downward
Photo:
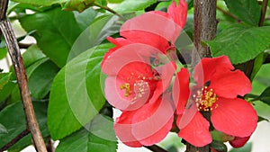
M 177 124 L 180 116 L 178 116 Z M 211 143 L 211 134 L 209 132 L 209 122 L 206 121 L 200 112 L 196 112 L 193 120 L 180 130 L 178 136 L 183 138 L 195 147 L 203 147 Z

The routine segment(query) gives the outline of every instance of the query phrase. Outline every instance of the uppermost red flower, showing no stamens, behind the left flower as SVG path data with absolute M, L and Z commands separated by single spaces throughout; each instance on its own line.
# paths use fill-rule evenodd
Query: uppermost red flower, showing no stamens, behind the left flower
M 187 4 L 180 0 L 176 6 L 175 1 L 168 7 L 167 13 L 152 11 L 143 13 L 130 19 L 121 26 L 122 38 L 107 39 L 115 44 L 115 48 L 105 53 L 103 62 L 116 50 L 130 43 L 143 43 L 166 53 L 174 49 L 175 40 L 184 28 L 186 21 Z M 149 23 L 151 22 L 151 23 Z M 103 67 L 102 62 L 102 67 Z

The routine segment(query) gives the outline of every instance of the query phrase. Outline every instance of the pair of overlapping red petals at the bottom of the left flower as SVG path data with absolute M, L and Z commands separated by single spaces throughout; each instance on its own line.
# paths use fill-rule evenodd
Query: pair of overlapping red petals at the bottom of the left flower
M 166 137 L 174 121 L 170 94 L 155 103 L 146 103 L 136 111 L 122 112 L 114 124 L 115 134 L 134 148 L 153 145 Z

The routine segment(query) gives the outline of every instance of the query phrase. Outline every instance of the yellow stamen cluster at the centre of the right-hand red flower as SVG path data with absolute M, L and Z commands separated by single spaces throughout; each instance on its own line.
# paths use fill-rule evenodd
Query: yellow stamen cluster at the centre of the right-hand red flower
M 202 87 L 201 90 L 197 90 L 197 92 L 193 94 L 193 99 L 197 105 L 198 111 L 208 112 L 219 106 L 219 104 L 216 103 L 218 100 L 217 94 L 214 94 L 212 89 L 209 89 L 207 86 Z

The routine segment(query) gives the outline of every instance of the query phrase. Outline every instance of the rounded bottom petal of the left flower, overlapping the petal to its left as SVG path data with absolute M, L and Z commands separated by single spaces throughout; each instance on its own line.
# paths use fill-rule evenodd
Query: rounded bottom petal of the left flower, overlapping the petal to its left
M 156 103 L 147 103 L 136 112 L 132 120 L 132 134 L 142 145 L 150 146 L 166 137 L 173 121 L 170 94 L 165 94 Z

